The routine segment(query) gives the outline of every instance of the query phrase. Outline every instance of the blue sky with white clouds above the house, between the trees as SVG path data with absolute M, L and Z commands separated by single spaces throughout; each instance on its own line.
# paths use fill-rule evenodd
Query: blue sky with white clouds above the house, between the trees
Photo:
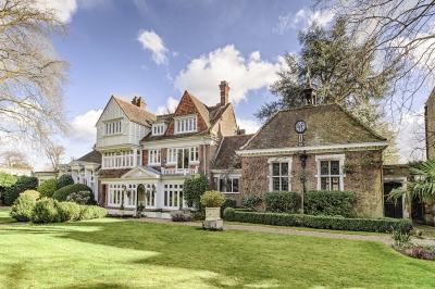
M 260 126 L 253 113 L 275 98 L 269 86 L 277 79 L 284 52 L 299 51 L 297 32 L 332 18 L 311 11 L 309 1 L 49 3 L 71 29 L 69 37 L 54 39 L 58 53 L 72 65 L 65 104 L 73 130 L 61 140 L 67 149 L 64 162 L 91 150 L 94 125 L 112 95 L 141 96 L 148 111 L 163 113 L 184 90 L 215 104 L 217 85 L 227 80 L 240 128 L 253 133 Z

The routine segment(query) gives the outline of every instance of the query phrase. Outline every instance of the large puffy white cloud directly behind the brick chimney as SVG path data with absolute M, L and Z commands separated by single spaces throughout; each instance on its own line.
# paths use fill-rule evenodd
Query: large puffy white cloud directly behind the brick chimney
M 220 101 L 219 84 L 229 83 L 229 101 L 237 104 L 247 100 L 249 90 L 257 90 L 273 84 L 275 72 L 284 65 L 283 58 L 278 62 L 262 61 L 258 51 L 247 61 L 234 46 L 219 48 L 207 55 L 194 59 L 174 81 L 174 87 L 182 93 L 189 90 L 207 105 L 215 105 Z

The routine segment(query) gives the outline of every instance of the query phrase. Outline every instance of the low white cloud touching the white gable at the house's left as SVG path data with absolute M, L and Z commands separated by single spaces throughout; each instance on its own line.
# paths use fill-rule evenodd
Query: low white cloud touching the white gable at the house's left
M 71 139 L 73 141 L 94 143 L 97 136 L 95 124 L 97 123 L 101 113 L 102 110 L 90 110 L 85 114 L 75 116 L 72 123 Z

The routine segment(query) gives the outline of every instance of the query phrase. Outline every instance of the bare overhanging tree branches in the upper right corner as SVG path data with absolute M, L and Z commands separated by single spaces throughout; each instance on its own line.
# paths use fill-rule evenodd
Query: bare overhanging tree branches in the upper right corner
M 434 1 L 318 0 L 314 8 L 346 18 L 352 42 L 373 41 L 365 53 L 376 58 L 378 72 L 398 72 L 388 96 L 393 106 L 412 104 L 420 88 L 434 86 Z

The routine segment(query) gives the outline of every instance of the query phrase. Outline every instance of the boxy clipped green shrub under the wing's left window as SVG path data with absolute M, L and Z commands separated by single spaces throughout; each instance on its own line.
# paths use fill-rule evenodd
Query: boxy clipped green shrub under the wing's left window
M 265 211 L 271 213 L 295 213 L 296 192 L 270 191 L 263 194 Z

